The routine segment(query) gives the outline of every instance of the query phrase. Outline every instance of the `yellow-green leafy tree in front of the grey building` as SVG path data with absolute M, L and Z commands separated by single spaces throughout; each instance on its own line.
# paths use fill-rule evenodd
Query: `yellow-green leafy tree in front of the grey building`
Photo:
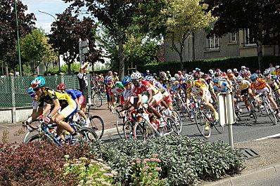
M 183 52 L 186 39 L 191 33 L 196 33 L 210 22 L 215 21 L 211 13 L 205 13 L 206 4 L 201 0 L 172 0 L 170 8 L 165 11 L 167 16 L 167 38 L 171 39 L 172 49 L 179 55 L 181 70 L 183 69 Z

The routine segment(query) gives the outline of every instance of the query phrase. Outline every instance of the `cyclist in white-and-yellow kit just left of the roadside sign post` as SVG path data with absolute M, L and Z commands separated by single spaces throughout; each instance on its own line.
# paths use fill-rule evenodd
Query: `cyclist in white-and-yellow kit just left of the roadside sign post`
M 194 95 L 196 98 L 201 99 L 202 102 L 213 112 L 216 121 L 219 119 L 219 114 L 210 103 L 212 102 L 211 94 L 208 88 L 200 84 L 198 81 L 194 81 L 193 76 L 186 75 L 186 84 L 188 84 L 188 89 L 186 90 L 187 95 L 187 105 L 189 105 L 191 96 Z M 205 127 L 205 130 L 209 130 L 209 126 Z

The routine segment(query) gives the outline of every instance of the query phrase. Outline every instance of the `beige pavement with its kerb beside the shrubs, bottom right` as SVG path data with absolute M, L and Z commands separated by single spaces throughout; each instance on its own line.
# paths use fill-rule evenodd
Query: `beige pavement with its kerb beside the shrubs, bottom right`
M 280 177 L 280 138 L 240 142 L 235 144 L 235 147 L 250 148 L 260 157 L 246 160 L 246 168 L 239 175 L 229 176 L 216 182 L 202 182 L 201 186 L 238 186 L 274 176 Z

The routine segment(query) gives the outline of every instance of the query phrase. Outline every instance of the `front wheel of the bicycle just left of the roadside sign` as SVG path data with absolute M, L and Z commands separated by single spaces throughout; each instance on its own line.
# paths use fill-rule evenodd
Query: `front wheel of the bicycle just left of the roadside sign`
M 210 121 L 205 116 L 202 111 L 196 112 L 196 126 L 198 127 L 198 131 L 203 135 L 205 138 L 210 138 L 211 135 L 211 127 Z

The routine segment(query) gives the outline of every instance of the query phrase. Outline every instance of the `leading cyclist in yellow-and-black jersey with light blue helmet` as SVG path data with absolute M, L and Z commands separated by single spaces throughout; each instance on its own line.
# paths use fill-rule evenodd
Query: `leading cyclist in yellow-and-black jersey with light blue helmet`
M 44 118 L 46 123 L 53 121 L 54 124 L 57 124 L 56 133 L 61 137 L 62 140 L 65 140 L 63 135 L 63 130 L 68 131 L 73 137 L 77 134 L 75 130 L 67 123 L 68 119 L 77 112 L 77 104 L 75 100 L 72 100 L 71 96 L 67 93 L 60 91 L 53 91 L 51 88 L 46 87 L 46 81 L 44 77 L 37 77 L 32 81 L 32 88 L 38 96 L 39 109 L 37 114 L 39 119 L 43 118 L 43 113 L 49 112 L 49 110 L 44 109 L 44 102 L 47 104 L 53 104 L 53 109 Z M 61 111 L 57 114 L 58 110 Z

